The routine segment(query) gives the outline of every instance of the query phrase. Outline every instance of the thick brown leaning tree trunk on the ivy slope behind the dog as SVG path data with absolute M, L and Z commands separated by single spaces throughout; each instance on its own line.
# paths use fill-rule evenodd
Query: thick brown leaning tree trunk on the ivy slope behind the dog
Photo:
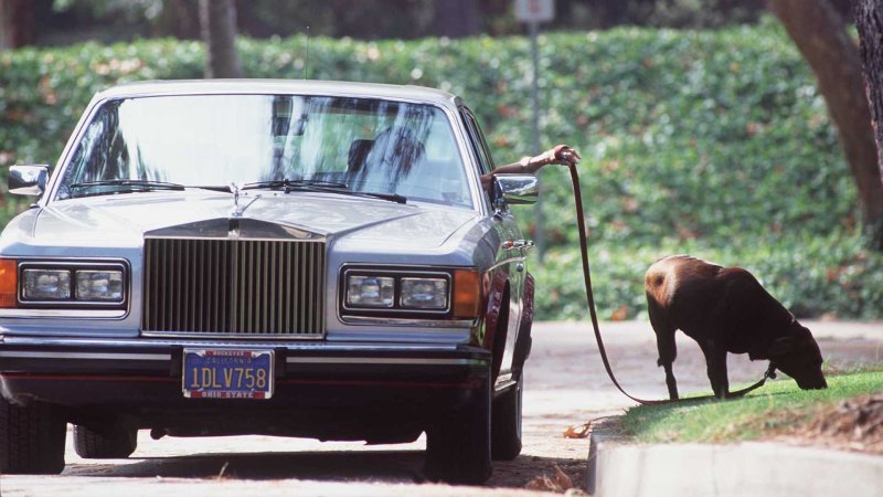
M 864 232 L 883 251 L 883 183 L 859 51 L 828 0 L 767 0 L 809 63 L 837 127 L 855 187 Z

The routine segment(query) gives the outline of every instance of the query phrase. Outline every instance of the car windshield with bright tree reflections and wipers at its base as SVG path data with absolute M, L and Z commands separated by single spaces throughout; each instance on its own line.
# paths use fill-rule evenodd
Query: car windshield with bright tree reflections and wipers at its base
M 439 108 L 292 95 L 107 102 L 82 134 L 56 198 L 292 181 L 472 207 Z

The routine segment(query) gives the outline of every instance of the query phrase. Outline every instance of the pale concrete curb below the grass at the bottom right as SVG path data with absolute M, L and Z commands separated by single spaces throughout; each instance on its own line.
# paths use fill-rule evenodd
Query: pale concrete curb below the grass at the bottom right
M 602 427 L 586 483 L 603 497 L 871 497 L 883 491 L 883 457 L 756 442 L 624 444 Z

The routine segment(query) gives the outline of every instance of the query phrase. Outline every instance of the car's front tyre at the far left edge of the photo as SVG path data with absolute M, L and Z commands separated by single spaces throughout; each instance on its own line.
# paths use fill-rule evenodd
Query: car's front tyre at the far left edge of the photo
M 18 406 L 0 398 L 0 474 L 57 475 L 67 423 L 52 406 Z

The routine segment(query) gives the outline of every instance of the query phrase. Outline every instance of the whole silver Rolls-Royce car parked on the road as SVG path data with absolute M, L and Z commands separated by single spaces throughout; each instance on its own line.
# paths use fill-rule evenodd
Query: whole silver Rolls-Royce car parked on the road
M 0 236 L 0 473 L 153 437 L 405 443 L 480 483 L 521 451 L 533 279 L 446 92 L 318 81 L 97 94 Z M 489 188 L 482 188 L 490 184 Z M 490 181 L 488 181 L 490 179 Z

